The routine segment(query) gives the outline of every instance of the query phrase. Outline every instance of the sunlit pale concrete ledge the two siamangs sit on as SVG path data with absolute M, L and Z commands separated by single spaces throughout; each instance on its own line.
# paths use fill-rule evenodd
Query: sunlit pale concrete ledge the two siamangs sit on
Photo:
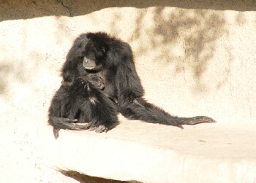
M 121 120 L 108 133 L 61 131 L 53 166 L 140 182 L 256 182 L 256 125 L 184 126 Z

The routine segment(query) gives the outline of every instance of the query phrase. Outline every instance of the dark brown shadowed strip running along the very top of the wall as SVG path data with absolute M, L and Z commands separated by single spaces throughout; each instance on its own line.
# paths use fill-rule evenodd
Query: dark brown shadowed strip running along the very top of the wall
M 3 0 L 0 8 L 0 21 L 27 19 L 44 16 L 79 16 L 108 7 L 181 7 L 184 9 L 216 9 L 236 11 L 256 11 L 254 0 L 148 0 L 148 1 L 39 1 L 39 0 Z

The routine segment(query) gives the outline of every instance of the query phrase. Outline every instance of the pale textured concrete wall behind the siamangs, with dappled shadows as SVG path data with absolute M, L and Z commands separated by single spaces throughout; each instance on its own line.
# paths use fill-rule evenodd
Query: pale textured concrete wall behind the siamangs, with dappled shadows
M 61 65 L 86 31 L 128 42 L 146 98 L 171 114 L 255 123 L 255 10 L 252 0 L 0 1 L 0 174 L 59 180 L 40 164 L 38 144 L 51 133 L 47 111 Z

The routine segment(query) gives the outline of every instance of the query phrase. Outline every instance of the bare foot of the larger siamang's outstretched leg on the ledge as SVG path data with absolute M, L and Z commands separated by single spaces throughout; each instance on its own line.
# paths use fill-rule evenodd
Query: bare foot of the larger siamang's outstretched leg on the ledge
M 178 127 L 183 129 L 182 125 L 197 125 L 203 122 L 216 122 L 216 121 L 211 117 L 206 117 L 206 116 L 184 117 L 178 121 Z

